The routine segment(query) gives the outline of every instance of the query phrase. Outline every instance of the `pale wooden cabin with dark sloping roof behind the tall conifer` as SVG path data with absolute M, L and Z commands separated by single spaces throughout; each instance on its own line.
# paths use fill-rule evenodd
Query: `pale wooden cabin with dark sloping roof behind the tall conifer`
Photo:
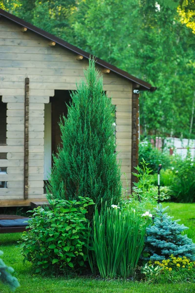
M 70 90 L 84 76 L 89 54 L 0 9 L 0 207 L 43 201 L 58 121 Z M 131 184 L 138 163 L 138 98 L 155 90 L 96 58 L 104 90 L 116 106 L 116 150 Z M 126 186 L 125 176 L 121 180 Z

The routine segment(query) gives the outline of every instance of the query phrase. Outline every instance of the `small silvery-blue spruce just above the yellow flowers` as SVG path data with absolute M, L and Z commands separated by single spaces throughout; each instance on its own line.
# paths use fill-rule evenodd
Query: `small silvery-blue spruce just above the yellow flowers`
M 183 230 L 188 228 L 183 224 L 178 224 L 177 222 L 180 220 L 173 221 L 173 217 L 164 213 L 168 208 L 163 209 L 161 204 L 158 208 L 154 208 L 156 213 L 153 224 L 146 229 L 145 259 L 162 261 L 173 254 L 195 260 L 195 244 L 187 235 L 181 234 Z

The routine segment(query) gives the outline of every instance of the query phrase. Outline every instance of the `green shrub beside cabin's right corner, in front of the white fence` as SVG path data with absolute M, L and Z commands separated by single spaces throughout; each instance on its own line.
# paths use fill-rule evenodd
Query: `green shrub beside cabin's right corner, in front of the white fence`
M 153 147 L 148 141 L 139 144 L 139 162 L 142 162 L 142 158 L 149 164 L 152 173 L 157 172 L 159 164 L 165 169 L 170 166 L 170 155 Z

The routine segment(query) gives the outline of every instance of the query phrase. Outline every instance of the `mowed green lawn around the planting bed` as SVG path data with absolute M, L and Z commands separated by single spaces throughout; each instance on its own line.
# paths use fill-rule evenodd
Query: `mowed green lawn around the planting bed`
M 193 223 L 195 204 L 163 204 L 170 206 L 171 215 L 180 218 L 181 223 Z M 195 293 L 195 284 L 148 284 L 131 281 L 102 281 L 85 277 L 42 277 L 32 273 L 30 263 L 23 264 L 18 241 L 21 233 L 0 234 L 0 250 L 3 261 L 14 268 L 14 275 L 21 287 L 16 293 Z M 9 287 L 0 284 L 0 293 L 11 293 Z

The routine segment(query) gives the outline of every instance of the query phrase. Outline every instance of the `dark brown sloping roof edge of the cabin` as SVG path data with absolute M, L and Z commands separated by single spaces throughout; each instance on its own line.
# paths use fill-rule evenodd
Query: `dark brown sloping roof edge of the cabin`
M 47 38 L 51 41 L 54 41 L 56 42 L 57 44 L 71 50 L 72 52 L 76 53 L 76 54 L 79 54 L 79 55 L 82 55 L 84 57 L 86 57 L 87 59 L 91 57 L 94 57 L 95 60 L 96 60 L 96 63 L 99 64 L 99 65 L 102 65 L 108 69 L 110 69 L 111 71 L 123 76 L 124 78 L 130 80 L 131 82 L 134 82 L 136 84 L 139 84 L 141 87 L 140 87 L 140 90 L 149 90 L 149 91 L 154 91 L 156 90 L 156 87 L 152 87 L 151 84 L 149 83 L 146 83 L 144 82 L 143 80 L 140 80 L 139 78 L 136 78 L 135 76 L 133 75 L 130 75 L 128 72 L 122 70 L 122 69 L 119 69 L 118 67 L 116 66 L 113 66 L 111 65 L 110 63 L 107 63 L 106 61 L 104 60 L 101 60 L 83 50 L 81 50 L 80 48 L 76 47 L 76 46 L 73 46 L 71 45 L 70 43 L 68 42 L 65 42 L 64 40 L 50 34 L 50 33 L 47 33 L 45 32 L 43 29 L 41 28 L 38 28 L 37 26 L 29 23 L 29 22 L 26 22 L 26 21 L 23 21 L 22 19 L 20 19 L 19 17 L 13 15 L 13 14 L 10 14 L 8 13 L 7 11 L 3 10 L 0 8 L 0 15 L 4 16 L 5 18 L 11 20 L 11 21 L 14 21 L 24 27 L 27 27 L 29 30 L 43 36 L 44 38 Z

